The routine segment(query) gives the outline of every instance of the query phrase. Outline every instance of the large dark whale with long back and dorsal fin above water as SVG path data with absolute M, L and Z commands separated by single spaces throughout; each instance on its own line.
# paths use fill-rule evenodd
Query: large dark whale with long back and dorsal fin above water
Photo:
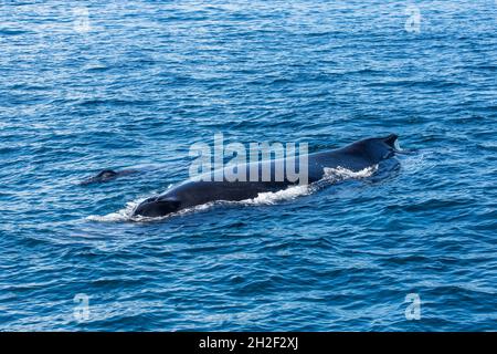
M 370 137 L 352 143 L 341 148 L 308 154 L 303 163 L 294 159 L 298 170 L 307 173 L 306 184 L 314 184 L 325 177 L 327 168 L 342 167 L 351 171 L 360 171 L 390 159 L 399 153 L 396 148 L 398 135 L 390 134 L 384 137 Z M 237 168 L 245 168 L 248 175 L 254 167 L 258 177 L 263 170 L 271 170 L 269 178 L 261 180 L 232 180 L 228 179 L 224 167 L 203 178 L 190 178 L 170 188 L 166 192 L 145 199 L 133 210 L 133 217 L 165 217 L 181 209 L 195 207 L 213 201 L 240 201 L 256 198 L 261 192 L 275 192 L 290 186 L 298 185 L 284 173 L 283 178 L 276 178 L 276 168 L 286 166 L 288 160 L 273 159 L 245 164 Z M 256 166 L 254 166 L 256 164 Z M 230 167 L 232 168 L 232 167 Z M 285 168 L 286 170 L 286 168 Z

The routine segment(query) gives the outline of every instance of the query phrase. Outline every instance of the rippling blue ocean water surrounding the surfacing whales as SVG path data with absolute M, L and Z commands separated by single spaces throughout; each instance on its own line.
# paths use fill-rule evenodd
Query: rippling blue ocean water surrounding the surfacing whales
M 3 1 L 0 330 L 497 330 L 496 21 L 488 0 Z M 413 152 L 130 221 L 216 133 Z M 105 168 L 140 173 L 78 185 Z

